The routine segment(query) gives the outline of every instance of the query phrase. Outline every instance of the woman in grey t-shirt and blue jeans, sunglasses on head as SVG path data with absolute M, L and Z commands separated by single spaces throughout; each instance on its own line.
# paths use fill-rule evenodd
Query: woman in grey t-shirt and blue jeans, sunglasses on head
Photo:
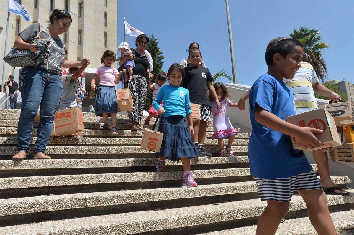
M 34 145 L 34 159 L 51 159 L 44 151 L 52 131 L 55 112 L 63 92 L 63 67 L 84 65 L 82 61 L 67 61 L 65 46 L 59 35 L 68 30 L 72 23 L 70 14 L 65 10 L 55 9 L 49 17 L 50 25 L 43 26 L 40 39 L 48 39 L 46 50 L 38 66 L 24 67 L 19 78 L 19 90 L 22 94 L 22 109 L 17 127 L 17 151 L 12 160 L 23 160 L 29 151 L 33 119 L 38 108 L 40 121 L 38 124 L 37 140 Z M 34 23 L 18 34 L 14 46 L 18 49 L 29 49 L 38 52 L 40 48 L 29 42 L 40 31 L 40 24 Z M 90 60 L 88 60 L 90 63 Z

